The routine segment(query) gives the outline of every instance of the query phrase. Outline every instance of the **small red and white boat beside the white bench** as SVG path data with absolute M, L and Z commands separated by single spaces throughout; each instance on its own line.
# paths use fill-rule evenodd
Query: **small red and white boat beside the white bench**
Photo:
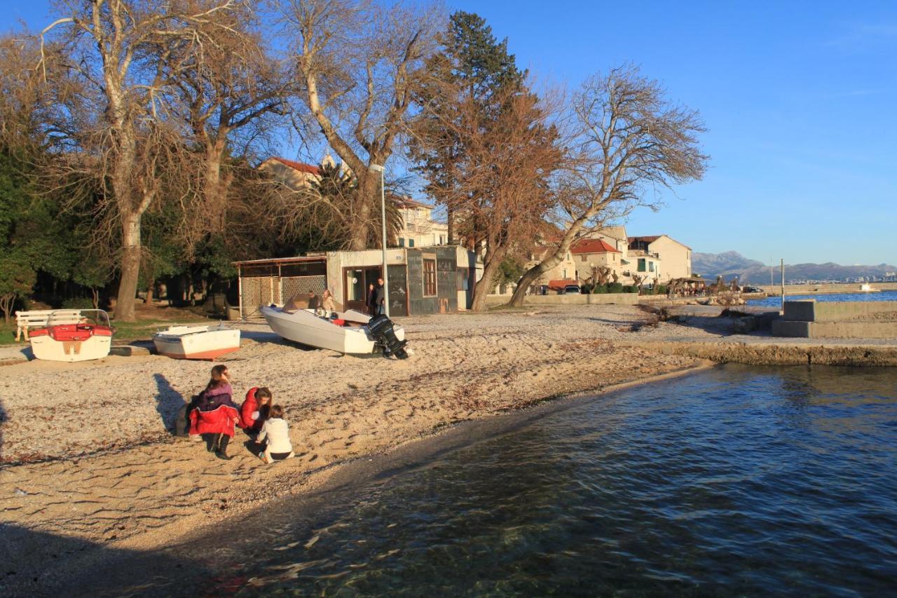
M 31 351 L 48 361 L 89 361 L 109 355 L 112 347 L 109 314 L 102 310 L 59 310 L 47 326 L 29 332 Z

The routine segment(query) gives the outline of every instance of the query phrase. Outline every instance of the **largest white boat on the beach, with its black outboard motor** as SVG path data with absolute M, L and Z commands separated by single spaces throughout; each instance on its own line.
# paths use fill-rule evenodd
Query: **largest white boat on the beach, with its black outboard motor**
M 384 350 L 404 359 L 405 330 L 386 316 L 371 318 L 349 310 L 318 315 L 315 310 L 283 311 L 263 307 L 262 315 L 278 336 L 309 347 L 326 348 L 350 355 L 369 355 Z

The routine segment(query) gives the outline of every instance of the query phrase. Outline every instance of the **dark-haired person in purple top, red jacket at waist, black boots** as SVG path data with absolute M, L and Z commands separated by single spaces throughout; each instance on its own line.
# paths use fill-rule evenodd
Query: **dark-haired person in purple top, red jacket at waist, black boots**
M 239 422 L 231 392 L 227 365 L 215 365 L 212 379 L 199 394 L 198 406 L 190 411 L 190 434 L 202 435 L 205 449 L 225 461 L 231 460 L 227 445 L 233 437 L 233 425 Z

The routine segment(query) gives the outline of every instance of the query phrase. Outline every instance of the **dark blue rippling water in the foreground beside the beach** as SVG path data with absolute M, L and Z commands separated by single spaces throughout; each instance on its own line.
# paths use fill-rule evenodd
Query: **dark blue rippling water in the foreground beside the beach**
M 315 513 L 269 509 L 219 589 L 893 594 L 895 386 L 727 365 L 579 400 Z

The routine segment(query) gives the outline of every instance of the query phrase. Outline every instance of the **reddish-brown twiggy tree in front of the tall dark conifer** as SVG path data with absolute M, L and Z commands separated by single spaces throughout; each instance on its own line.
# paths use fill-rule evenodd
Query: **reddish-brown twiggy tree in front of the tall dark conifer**
M 432 119 L 413 131 L 413 143 L 429 151 L 450 139 L 461 148 L 459 159 L 447 163 L 448 176 L 423 171 L 431 193 L 456 215 L 458 234 L 467 246 L 483 252 L 483 277 L 474 288 L 471 309 L 485 309 L 502 261 L 520 251 L 544 226 L 553 206 L 548 180 L 562 152 L 556 145 L 552 116 L 535 94 L 509 85 L 494 93 L 492 107 L 483 110 L 479 98 L 447 83 L 439 102 L 444 127 Z M 454 101 L 451 101 L 454 99 Z M 429 174 L 428 174 L 429 172 Z M 451 181 L 440 187 L 442 181 Z

